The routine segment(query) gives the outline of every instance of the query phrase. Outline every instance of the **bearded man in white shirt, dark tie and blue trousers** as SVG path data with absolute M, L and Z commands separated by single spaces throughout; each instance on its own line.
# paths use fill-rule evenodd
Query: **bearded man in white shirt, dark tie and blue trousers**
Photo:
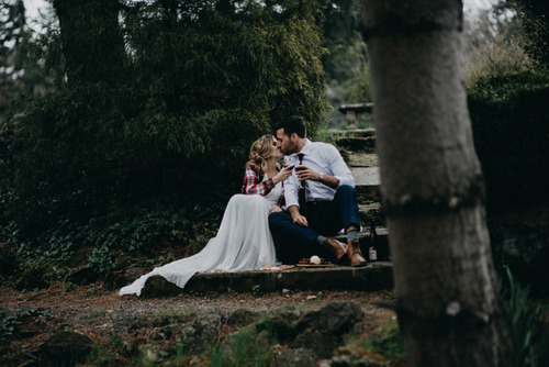
M 355 179 L 339 152 L 329 144 L 311 142 L 298 116 L 276 127 L 277 147 L 294 173 L 284 184 L 287 212 L 269 215 L 269 227 L 279 259 L 328 254 L 336 263 L 366 265 L 360 252 L 360 216 Z M 345 230 L 347 245 L 329 237 Z

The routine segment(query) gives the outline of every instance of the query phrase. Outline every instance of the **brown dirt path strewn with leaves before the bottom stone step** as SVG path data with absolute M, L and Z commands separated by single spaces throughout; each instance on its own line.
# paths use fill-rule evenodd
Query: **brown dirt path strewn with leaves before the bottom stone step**
M 63 285 L 34 292 L 0 288 L 0 308 L 8 313 L 26 315 L 19 319 L 15 332 L 2 342 L 10 354 L 25 355 L 36 351 L 56 331 L 68 330 L 104 344 L 114 335 L 131 341 L 136 320 L 146 320 L 169 312 L 215 309 L 225 316 L 237 309 L 272 311 L 282 307 L 315 310 L 332 300 L 352 300 L 361 304 L 365 318 L 386 320 L 392 311 L 393 291 L 282 291 L 268 293 L 182 294 L 172 298 L 144 299 L 117 296 L 100 283 L 70 290 Z M 5 349 L 4 349 L 5 351 Z

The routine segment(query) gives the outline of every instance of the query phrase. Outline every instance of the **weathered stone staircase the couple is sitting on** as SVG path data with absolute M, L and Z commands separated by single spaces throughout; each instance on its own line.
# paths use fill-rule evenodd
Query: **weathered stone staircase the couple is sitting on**
M 340 132 L 337 132 L 337 136 Z M 354 138 L 352 136 L 345 138 Z M 366 267 L 335 265 L 322 268 L 294 267 L 288 270 L 258 270 L 238 273 L 197 274 L 184 290 L 167 282 L 164 278 L 150 277 L 143 289 L 143 297 L 165 297 L 182 292 L 236 292 L 283 291 L 283 290 L 363 290 L 373 291 L 393 288 L 389 231 L 385 226 L 381 200 L 377 155 L 363 152 L 348 152 L 348 165 L 355 177 L 362 229 L 360 247 L 367 257 Z M 371 226 L 376 235 L 371 233 Z M 346 242 L 344 234 L 337 236 Z M 378 260 L 368 258 L 370 247 L 377 249 Z

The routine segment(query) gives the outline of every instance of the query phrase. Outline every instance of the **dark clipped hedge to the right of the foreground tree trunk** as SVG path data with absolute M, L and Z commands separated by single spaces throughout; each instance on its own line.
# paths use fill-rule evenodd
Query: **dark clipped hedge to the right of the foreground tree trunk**
M 468 91 L 489 211 L 547 203 L 549 73 L 481 78 Z

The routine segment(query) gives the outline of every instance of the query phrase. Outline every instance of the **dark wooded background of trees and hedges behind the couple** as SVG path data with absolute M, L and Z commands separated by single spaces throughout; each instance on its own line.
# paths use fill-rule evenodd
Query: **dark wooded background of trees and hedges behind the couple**
M 100 276 L 124 254 L 198 252 L 254 140 L 289 114 L 321 136 L 340 103 L 370 101 L 358 0 L 49 3 L 31 21 L 22 0 L 2 0 L 0 242 L 22 268 L 55 264 L 54 278 L 82 254 Z M 541 0 L 502 0 L 466 23 L 491 210 L 517 185 L 520 203 L 549 187 L 548 14 Z M 505 170 L 516 164 L 520 178 Z

